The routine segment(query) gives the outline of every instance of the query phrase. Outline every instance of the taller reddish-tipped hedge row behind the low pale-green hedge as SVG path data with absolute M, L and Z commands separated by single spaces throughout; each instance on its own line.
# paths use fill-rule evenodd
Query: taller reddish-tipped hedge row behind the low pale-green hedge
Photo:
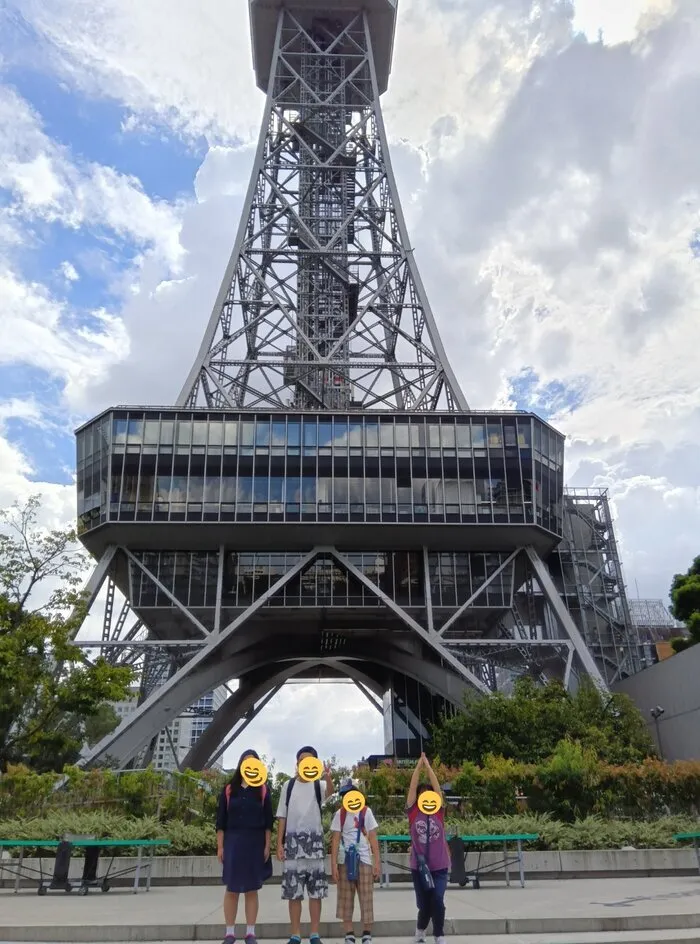
M 563 741 L 540 764 L 488 757 L 483 767 L 465 763 L 448 769 L 435 761 L 440 782 L 461 798 L 462 816 L 515 815 L 527 810 L 574 822 L 588 816 L 657 819 L 697 815 L 700 762 L 667 764 L 649 759 L 612 766 L 577 743 Z M 381 767 L 355 771 L 360 788 L 382 816 L 403 811 L 411 770 Z M 115 774 L 108 770 L 67 768 L 67 783 L 56 790 L 57 774 L 11 768 L 0 776 L 0 819 L 57 810 L 112 811 L 136 817 L 176 819 L 184 824 L 212 822 L 225 776 L 215 772 L 164 774 L 154 770 Z M 272 777 L 277 802 L 284 775 Z

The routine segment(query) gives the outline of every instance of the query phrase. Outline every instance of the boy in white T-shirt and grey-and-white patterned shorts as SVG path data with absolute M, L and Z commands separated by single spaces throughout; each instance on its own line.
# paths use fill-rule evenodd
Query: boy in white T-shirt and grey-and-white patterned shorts
M 284 863 L 282 900 L 289 902 L 289 944 L 301 944 L 305 893 L 309 899 L 309 942 L 321 944 L 321 903 L 328 895 L 321 807 L 334 787 L 328 765 L 322 780 L 302 780 L 300 764 L 309 757 L 318 758 L 313 747 L 302 747 L 297 752 L 296 777 L 282 787 L 277 807 L 277 858 Z

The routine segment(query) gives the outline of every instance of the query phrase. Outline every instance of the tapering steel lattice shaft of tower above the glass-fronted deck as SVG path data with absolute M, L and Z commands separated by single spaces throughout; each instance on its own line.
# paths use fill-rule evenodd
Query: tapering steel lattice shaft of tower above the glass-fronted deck
M 468 409 L 408 239 L 363 13 L 279 13 L 240 228 L 178 398 L 198 405 Z

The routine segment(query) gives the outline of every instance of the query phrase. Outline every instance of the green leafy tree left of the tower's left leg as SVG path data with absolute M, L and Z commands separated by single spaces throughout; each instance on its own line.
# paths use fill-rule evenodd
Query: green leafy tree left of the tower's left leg
M 73 645 L 86 558 L 73 531 L 37 526 L 39 507 L 32 497 L 0 512 L 0 770 L 75 762 L 114 720 L 105 703 L 133 680 L 131 668 L 91 662 Z

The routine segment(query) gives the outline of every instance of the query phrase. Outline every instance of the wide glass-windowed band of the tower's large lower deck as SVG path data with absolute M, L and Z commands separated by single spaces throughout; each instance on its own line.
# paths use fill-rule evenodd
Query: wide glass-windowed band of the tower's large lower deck
M 564 438 L 530 414 L 113 410 L 77 433 L 78 525 L 396 522 L 561 534 Z

